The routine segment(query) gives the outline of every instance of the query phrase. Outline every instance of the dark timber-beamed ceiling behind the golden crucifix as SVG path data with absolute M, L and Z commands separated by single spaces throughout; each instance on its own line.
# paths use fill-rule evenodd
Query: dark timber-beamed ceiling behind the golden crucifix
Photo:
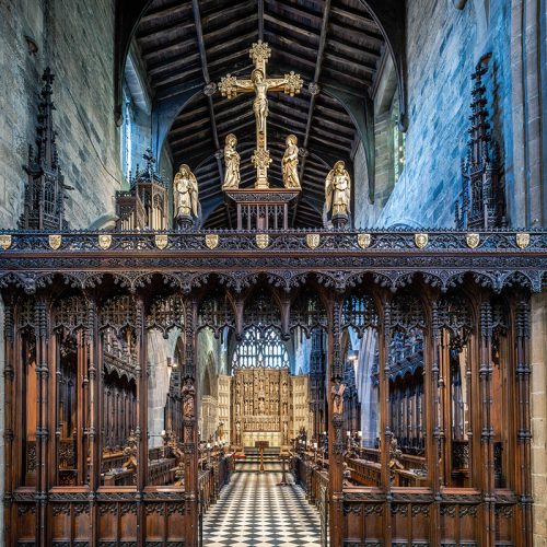
M 351 165 L 351 151 L 363 138 L 349 103 L 361 104 L 374 84 L 385 42 L 360 0 L 152 0 L 136 32 L 155 103 L 185 90 L 198 91 L 173 121 L 168 144 L 175 166 L 195 171 L 207 226 L 228 228 L 231 220 L 221 191 L 219 150 L 234 132 L 242 156 L 242 186 L 253 186 L 255 148 L 252 95 L 228 100 L 203 93 L 226 73 L 248 77 L 248 49 L 259 38 L 272 55 L 269 75 L 289 70 L 304 89 L 289 97 L 269 96 L 268 141 L 274 163 L 270 185 L 282 186 L 280 161 L 289 133 L 299 138 L 302 198 L 294 225 L 321 225 L 324 181 L 336 160 Z M 311 82 L 319 93 L 312 94 Z M 357 101 L 357 103 L 356 103 Z

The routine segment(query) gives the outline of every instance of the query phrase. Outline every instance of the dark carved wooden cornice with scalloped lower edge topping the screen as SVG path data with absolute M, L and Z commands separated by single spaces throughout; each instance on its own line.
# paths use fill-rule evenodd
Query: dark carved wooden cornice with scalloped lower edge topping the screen
M 219 235 L 214 249 L 206 245 L 205 236 L 211 233 Z M 155 274 L 185 293 L 206 284 L 210 275 L 235 291 L 255 283 L 259 274 L 284 290 L 310 275 L 338 291 L 354 287 L 365 275 L 394 291 L 417 275 L 442 291 L 462 283 L 465 274 L 493 291 L 519 286 L 540 292 L 547 283 L 546 232 L 531 232 L 524 249 L 516 243 L 516 232 L 508 231 L 481 232 L 473 249 L 466 233 L 456 231 L 429 232 L 423 248 L 416 246 L 412 232 L 372 232 L 370 246 L 362 248 L 358 232 L 324 231 L 319 247 L 311 249 L 309 233 L 270 231 L 265 249 L 257 248 L 255 232 L 170 232 L 164 249 L 156 247 L 154 232 L 113 233 L 110 247 L 102 249 L 98 232 L 70 231 L 54 251 L 48 233 L 12 231 L 11 246 L 0 251 L 0 288 L 14 286 L 34 293 L 60 275 L 67 284 L 89 289 L 112 275 L 135 292 Z

